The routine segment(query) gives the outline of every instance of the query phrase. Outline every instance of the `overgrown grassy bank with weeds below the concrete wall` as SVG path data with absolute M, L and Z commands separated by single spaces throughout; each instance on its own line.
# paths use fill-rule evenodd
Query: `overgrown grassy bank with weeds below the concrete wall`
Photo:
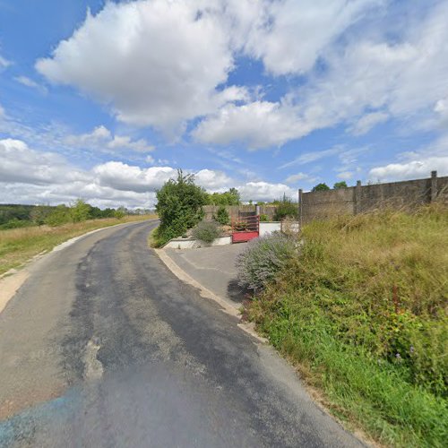
M 314 222 L 248 310 L 327 408 L 390 446 L 448 440 L 448 209 Z

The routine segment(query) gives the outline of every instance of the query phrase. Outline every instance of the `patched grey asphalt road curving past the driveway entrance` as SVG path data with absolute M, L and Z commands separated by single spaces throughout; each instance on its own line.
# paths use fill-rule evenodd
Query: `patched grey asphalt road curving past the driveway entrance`
M 360 446 L 272 350 L 107 228 L 33 266 L 0 314 L 0 446 Z

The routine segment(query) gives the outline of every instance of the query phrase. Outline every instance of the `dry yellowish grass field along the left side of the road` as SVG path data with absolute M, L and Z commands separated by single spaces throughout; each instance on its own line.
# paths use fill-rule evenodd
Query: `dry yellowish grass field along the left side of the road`
M 25 263 L 32 256 L 51 250 L 67 239 L 78 237 L 96 228 L 105 228 L 156 218 L 155 215 L 125 216 L 120 220 L 108 218 L 103 220 L 85 220 L 59 227 L 28 227 L 0 230 L 0 274 Z

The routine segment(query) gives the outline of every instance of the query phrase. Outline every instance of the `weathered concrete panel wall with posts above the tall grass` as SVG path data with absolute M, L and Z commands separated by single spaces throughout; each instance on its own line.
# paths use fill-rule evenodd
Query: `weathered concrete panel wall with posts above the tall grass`
M 412 209 L 429 202 L 448 203 L 448 177 L 436 172 L 426 179 L 361 185 L 324 192 L 299 191 L 302 223 L 337 215 L 353 215 L 386 207 Z

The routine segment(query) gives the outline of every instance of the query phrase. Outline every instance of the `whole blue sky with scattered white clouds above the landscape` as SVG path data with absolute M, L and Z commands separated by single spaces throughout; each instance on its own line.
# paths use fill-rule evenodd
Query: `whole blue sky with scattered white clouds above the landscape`
M 448 175 L 448 0 L 0 0 L 0 202 Z

